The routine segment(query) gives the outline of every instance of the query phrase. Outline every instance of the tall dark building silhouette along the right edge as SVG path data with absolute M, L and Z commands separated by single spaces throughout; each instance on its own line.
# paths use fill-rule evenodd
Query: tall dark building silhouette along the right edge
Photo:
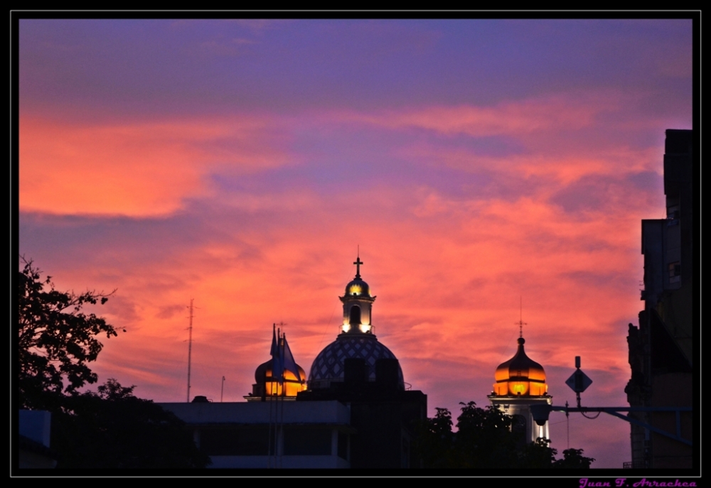
M 667 217 L 642 221 L 644 310 L 629 325 L 630 406 L 693 405 L 694 185 L 692 131 L 666 131 L 664 193 Z M 697 390 L 698 391 L 698 390 Z M 692 412 L 636 412 L 630 416 L 684 440 L 693 438 Z M 692 447 L 631 425 L 632 465 L 690 468 Z

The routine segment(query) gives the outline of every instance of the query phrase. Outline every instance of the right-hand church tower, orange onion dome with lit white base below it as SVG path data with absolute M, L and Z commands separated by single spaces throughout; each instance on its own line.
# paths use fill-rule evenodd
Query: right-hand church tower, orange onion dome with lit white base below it
M 496 368 L 493 391 L 488 395 L 491 405 L 513 417 L 511 430 L 521 433 L 527 443 L 537 438 L 550 439 L 548 423 L 538 425 L 533 421 L 530 406 L 552 404 L 548 395 L 543 367 L 530 359 L 523 350 L 523 333 L 518 337 L 516 354 Z

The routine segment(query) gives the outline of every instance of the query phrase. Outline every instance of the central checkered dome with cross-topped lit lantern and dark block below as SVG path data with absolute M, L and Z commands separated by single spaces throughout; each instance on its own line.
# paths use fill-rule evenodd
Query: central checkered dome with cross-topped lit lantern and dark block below
M 349 406 L 351 467 L 418 467 L 412 444 L 416 423 L 427 418 L 427 395 L 405 389 L 400 362 L 375 336 L 375 296 L 360 277 L 360 257 L 353 264 L 355 278 L 340 297 L 341 333 L 314 359 L 309 389 L 296 403 L 337 400 Z

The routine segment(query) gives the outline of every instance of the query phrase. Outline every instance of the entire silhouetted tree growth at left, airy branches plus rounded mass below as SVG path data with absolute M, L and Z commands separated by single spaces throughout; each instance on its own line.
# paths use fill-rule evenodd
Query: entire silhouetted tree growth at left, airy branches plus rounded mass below
M 78 389 L 97 381 L 87 366 L 102 344 L 97 337 L 117 330 L 84 305 L 102 305 L 108 295 L 55 290 L 32 261 L 19 273 L 19 408 L 52 412 L 52 448 L 57 467 L 205 467 L 210 458 L 196 448 L 185 423 L 152 401 L 133 395 L 134 386 L 109 379 L 97 392 Z M 125 330 L 124 330 L 125 332 Z

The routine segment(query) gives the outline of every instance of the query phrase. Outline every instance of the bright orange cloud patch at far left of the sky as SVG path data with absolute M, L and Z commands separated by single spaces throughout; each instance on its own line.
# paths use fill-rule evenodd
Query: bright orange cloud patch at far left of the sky
M 208 176 L 217 168 L 244 173 L 286 164 L 265 125 L 223 119 L 92 126 L 23 116 L 20 209 L 133 217 L 175 212 L 186 198 L 210 193 Z

